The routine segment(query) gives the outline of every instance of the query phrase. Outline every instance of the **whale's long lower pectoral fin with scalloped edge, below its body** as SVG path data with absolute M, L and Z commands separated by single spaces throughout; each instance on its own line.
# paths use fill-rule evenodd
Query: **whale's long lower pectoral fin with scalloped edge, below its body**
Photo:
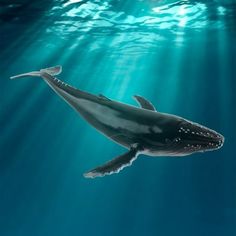
M 84 174 L 86 178 L 103 177 L 104 175 L 111 175 L 113 173 L 119 173 L 126 166 L 130 166 L 132 162 L 137 158 L 138 149 L 131 148 L 125 154 L 108 161 L 104 165 L 98 166 L 97 168 L 90 170 Z

